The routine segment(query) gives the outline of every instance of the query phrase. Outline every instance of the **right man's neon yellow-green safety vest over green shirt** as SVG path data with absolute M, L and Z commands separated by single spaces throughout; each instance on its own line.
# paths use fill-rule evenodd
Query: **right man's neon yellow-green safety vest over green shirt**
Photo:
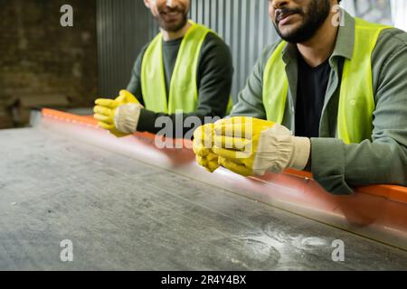
M 372 140 L 375 109 L 372 54 L 380 33 L 392 28 L 355 18 L 355 47 L 351 60 L 345 59 L 337 113 L 337 136 L 345 144 Z M 263 74 L 263 104 L 267 118 L 281 124 L 284 119 L 289 79 L 281 42 L 273 51 Z

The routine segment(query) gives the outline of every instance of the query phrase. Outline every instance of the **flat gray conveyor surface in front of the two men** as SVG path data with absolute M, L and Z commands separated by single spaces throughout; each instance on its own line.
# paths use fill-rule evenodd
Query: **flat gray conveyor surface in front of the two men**
M 41 127 L 0 146 L 1 270 L 407 269 L 404 251 Z

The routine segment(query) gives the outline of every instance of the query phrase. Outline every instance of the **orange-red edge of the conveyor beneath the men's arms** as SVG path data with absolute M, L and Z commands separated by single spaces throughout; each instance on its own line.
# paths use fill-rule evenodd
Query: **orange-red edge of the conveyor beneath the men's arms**
M 59 122 L 60 125 L 70 124 L 71 128 L 95 131 L 95 134 L 103 135 L 100 137 L 109 138 L 109 144 L 120 146 L 122 154 L 125 152 L 131 157 L 184 174 L 196 181 L 207 182 L 252 200 L 269 203 L 279 209 L 407 250 L 405 187 L 368 186 L 357 188 L 352 196 L 335 196 L 322 189 L 309 172 L 289 170 L 279 175 L 243 178 L 221 168 L 211 174 L 194 163 L 194 153 L 190 149 L 192 144 L 187 140 L 174 140 L 175 143 L 183 144 L 181 149 L 158 149 L 154 144 L 155 135 L 137 133 L 117 139 L 99 129 L 93 117 L 43 109 L 43 119 L 45 122 L 57 122 L 53 125 L 48 123 L 50 127 L 58 126 Z M 99 142 L 95 135 L 83 135 L 80 137 L 88 137 L 88 142 Z

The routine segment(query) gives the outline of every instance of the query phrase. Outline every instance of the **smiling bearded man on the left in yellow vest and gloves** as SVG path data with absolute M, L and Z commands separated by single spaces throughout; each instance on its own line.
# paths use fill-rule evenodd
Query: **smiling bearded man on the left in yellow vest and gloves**
M 127 90 L 115 100 L 97 99 L 94 117 L 117 136 L 157 134 L 165 124 L 172 126 L 173 137 L 182 138 L 191 130 L 183 126 L 185 119 L 193 117 L 194 124 L 202 125 L 225 116 L 232 89 L 231 51 L 216 33 L 188 20 L 190 0 L 144 3 L 160 33 L 139 53 Z

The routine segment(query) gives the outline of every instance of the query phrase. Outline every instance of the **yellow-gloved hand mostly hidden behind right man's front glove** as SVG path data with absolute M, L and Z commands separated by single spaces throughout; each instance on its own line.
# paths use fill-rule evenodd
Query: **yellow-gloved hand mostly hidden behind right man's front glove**
M 194 153 L 196 163 L 207 171 L 214 172 L 219 168 L 218 156 L 213 154 L 213 124 L 200 126 L 194 131 Z

